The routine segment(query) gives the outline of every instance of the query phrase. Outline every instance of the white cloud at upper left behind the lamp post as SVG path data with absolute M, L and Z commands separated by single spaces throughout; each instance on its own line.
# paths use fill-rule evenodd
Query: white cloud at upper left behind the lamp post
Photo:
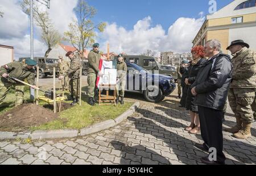
M 1 11 L 4 17 L 0 18 L 0 44 L 14 46 L 15 59 L 28 57 L 30 55 L 30 19 L 20 8 L 21 0 L 1 0 Z M 55 28 L 63 34 L 68 30 L 68 24 L 72 18 L 76 18 L 73 8 L 77 0 L 54 0 L 51 1 L 51 8 L 43 5 L 40 8 L 49 12 L 49 16 Z M 40 29 L 34 24 L 35 36 L 40 36 Z M 34 55 L 42 56 L 46 51 L 46 46 L 40 38 L 34 39 Z

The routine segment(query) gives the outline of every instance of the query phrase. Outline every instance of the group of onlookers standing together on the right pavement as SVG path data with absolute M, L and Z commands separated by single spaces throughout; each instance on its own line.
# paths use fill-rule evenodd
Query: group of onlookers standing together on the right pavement
M 189 110 L 191 125 L 184 130 L 191 134 L 201 132 L 204 143 L 195 147 L 212 155 L 202 157 L 205 164 L 225 164 L 222 121 L 227 106 L 233 110 L 237 125 L 225 128 L 235 138 L 251 136 L 251 125 L 256 118 L 256 51 L 242 40 L 233 41 L 223 54 L 218 40 L 207 41 L 205 46 L 192 48 L 192 61 L 183 61 L 177 68 L 180 107 Z M 181 96 L 182 93 L 182 96 Z

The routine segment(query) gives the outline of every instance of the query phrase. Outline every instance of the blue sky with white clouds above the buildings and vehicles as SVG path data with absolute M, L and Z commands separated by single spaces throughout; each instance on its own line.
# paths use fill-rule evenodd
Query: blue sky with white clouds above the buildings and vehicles
M 30 53 L 30 19 L 20 8 L 22 0 L 0 1 L 0 10 L 5 13 L 4 18 L 0 18 L 4 26 L 0 28 L 0 44 L 14 46 L 15 58 L 26 57 Z M 72 19 L 76 19 L 73 8 L 77 1 L 51 0 L 47 11 L 61 35 L 69 30 Z M 162 51 L 189 52 L 205 20 L 199 13 L 209 13 L 209 1 L 214 0 L 86 0 L 98 11 L 93 22 L 108 23 L 103 33 L 97 33 L 96 41 L 100 42 L 101 50 L 106 52 L 109 43 L 110 51 L 127 54 L 141 54 L 147 49 L 159 54 Z M 216 1 L 217 10 L 232 2 Z M 47 47 L 40 38 L 40 29 L 36 25 L 34 28 L 35 55 L 43 55 Z

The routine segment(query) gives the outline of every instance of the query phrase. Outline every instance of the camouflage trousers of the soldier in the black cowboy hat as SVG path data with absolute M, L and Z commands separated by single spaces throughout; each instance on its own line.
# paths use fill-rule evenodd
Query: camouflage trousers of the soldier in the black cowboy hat
M 255 88 L 230 88 L 229 104 L 236 117 L 254 122 L 256 111 Z

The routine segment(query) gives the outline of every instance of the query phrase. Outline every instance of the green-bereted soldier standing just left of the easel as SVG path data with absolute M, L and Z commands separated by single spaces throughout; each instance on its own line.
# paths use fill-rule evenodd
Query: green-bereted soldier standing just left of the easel
M 93 49 L 88 54 L 88 77 L 87 77 L 87 83 L 88 83 L 88 104 L 91 106 L 95 105 L 94 100 L 94 91 L 96 88 L 96 79 L 97 75 L 102 76 L 102 72 L 98 68 L 100 65 L 100 59 L 101 54 L 98 51 L 100 44 L 96 43 L 93 44 Z

